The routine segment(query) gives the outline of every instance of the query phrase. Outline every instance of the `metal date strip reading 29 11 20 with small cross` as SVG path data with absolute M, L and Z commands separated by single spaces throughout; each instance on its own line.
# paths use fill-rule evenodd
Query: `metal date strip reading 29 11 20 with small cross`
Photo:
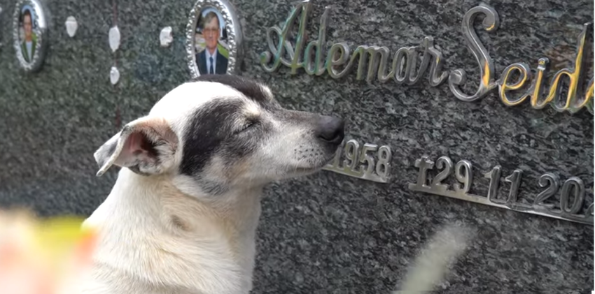
M 494 166 L 484 173 L 484 179 L 489 181 L 486 196 L 470 193 L 473 184 L 472 165 L 469 161 L 461 160 L 453 164 L 448 156 L 441 156 L 437 161 L 431 161 L 428 156 L 422 156 L 415 161 L 419 169 L 417 181 L 409 184 L 409 190 L 430 193 L 450 198 L 490 205 L 507 210 L 549 216 L 566 221 L 586 223 L 593 226 L 593 202 L 587 203 L 584 182 L 579 177 L 569 177 L 561 182 L 554 173 L 547 172 L 538 179 L 543 188 L 532 201 L 519 199 L 519 188 L 523 171 L 514 170 L 504 177 L 505 184 L 510 185 L 505 197 L 498 195 L 498 187 L 502 178 L 502 168 Z M 428 179 L 428 170 L 439 170 L 433 179 Z M 458 184 L 449 185 L 446 181 L 454 175 Z

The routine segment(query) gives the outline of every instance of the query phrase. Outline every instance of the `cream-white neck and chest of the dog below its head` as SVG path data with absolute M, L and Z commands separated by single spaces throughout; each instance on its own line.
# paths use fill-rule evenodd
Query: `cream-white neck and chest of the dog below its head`
M 181 193 L 167 176 L 145 177 L 123 168 L 85 225 L 102 229 L 97 263 L 133 279 L 189 289 L 221 281 L 221 288 L 211 290 L 247 292 L 261 193 L 262 187 L 233 189 L 217 196 L 221 201 L 201 200 Z

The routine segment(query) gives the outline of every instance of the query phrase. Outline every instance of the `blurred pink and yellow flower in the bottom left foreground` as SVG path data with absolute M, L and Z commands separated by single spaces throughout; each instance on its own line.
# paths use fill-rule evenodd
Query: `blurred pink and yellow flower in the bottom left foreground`
M 69 294 L 90 267 L 97 233 L 83 219 L 0 211 L 0 293 Z

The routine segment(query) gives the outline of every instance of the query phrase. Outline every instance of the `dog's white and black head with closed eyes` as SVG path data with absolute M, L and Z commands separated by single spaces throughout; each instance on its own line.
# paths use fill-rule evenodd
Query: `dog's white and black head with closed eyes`
M 307 175 L 335 155 L 342 119 L 281 108 L 268 87 L 203 75 L 170 91 L 124 126 L 94 157 L 147 177 L 165 175 L 185 193 L 223 193 Z

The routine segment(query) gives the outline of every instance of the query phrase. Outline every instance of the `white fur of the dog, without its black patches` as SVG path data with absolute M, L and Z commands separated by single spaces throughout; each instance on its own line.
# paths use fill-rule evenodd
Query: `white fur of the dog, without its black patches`
M 272 92 L 258 87 L 261 98 L 273 103 Z M 250 159 L 225 171 L 221 156 L 209 161 L 203 178 L 228 181 L 225 192 L 213 197 L 177 168 L 189 119 L 216 98 L 241 101 L 232 124 L 259 117 L 274 134 L 258 143 Z M 309 133 L 304 126 L 267 115 L 253 99 L 225 84 L 188 82 L 170 91 L 148 116 L 127 124 L 94 154 L 98 175 L 112 165 L 123 168 L 104 203 L 83 223 L 97 228 L 100 238 L 82 293 L 248 293 L 262 186 L 314 172 L 332 158 L 330 152 L 318 152 L 321 158 L 307 162 L 290 156 L 297 143 L 314 146 L 304 139 Z M 147 138 L 161 143 L 155 147 L 158 158 L 139 147 L 139 140 Z M 129 168 L 133 166 L 136 172 Z M 306 172 L 300 171 L 304 168 Z

